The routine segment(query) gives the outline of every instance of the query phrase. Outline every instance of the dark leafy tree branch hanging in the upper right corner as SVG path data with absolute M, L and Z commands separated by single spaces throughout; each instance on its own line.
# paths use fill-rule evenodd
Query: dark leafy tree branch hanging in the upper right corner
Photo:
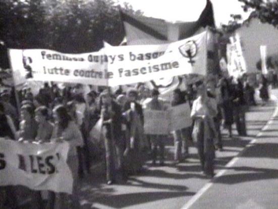
M 243 9 L 254 11 L 252 17 L 257 17 L 262 23 L 269 23 L 275 28 L 278 27 L 278 2 L 273 0 L 238 0 L 244 3 Z

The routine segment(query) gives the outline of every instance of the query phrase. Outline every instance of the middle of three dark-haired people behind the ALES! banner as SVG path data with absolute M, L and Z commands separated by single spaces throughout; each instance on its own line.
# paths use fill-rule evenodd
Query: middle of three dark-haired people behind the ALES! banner
M 49 122 L 48 109 L 46 106 L 40 106 L 35 109 L 35 120 L 38 123 L 36 141 L 49 142 L 53 131 L 53 124 Z

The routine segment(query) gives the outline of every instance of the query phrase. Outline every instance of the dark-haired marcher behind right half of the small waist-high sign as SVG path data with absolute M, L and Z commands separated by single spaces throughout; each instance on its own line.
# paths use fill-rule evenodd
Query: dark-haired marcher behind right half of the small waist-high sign
M 185 94 L 180 89 L 175 89 L 173 92 L 172 106 L 184 104 L 186 102 Z M 191 127 L 186 127 L 173 131 L 175 142 L 174 159 L 177 163 L 182 162 L 189 154 L 189 141 L 191 140 L 190 129 Z

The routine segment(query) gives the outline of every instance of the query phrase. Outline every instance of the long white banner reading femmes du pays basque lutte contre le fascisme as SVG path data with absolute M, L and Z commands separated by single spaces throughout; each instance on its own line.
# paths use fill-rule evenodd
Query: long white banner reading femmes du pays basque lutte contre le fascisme
M 206 32 L 170 44 L 105 46 L 65 54 L 47 49 L 10 49 L 15 75 L 36 81 L 117 86 L 184 74 L 206 75 Z M 21 79 L 24 80 L 24 79 Z M 22 82 L 17 81 L 16 84 Z

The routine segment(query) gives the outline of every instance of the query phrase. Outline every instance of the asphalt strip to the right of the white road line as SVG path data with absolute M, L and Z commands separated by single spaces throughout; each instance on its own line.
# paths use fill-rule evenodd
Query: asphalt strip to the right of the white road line
M 272 90 L 278 97 L 278 90 Z M 278 107 L 264 128 L 186 208 L 278 208 Z

